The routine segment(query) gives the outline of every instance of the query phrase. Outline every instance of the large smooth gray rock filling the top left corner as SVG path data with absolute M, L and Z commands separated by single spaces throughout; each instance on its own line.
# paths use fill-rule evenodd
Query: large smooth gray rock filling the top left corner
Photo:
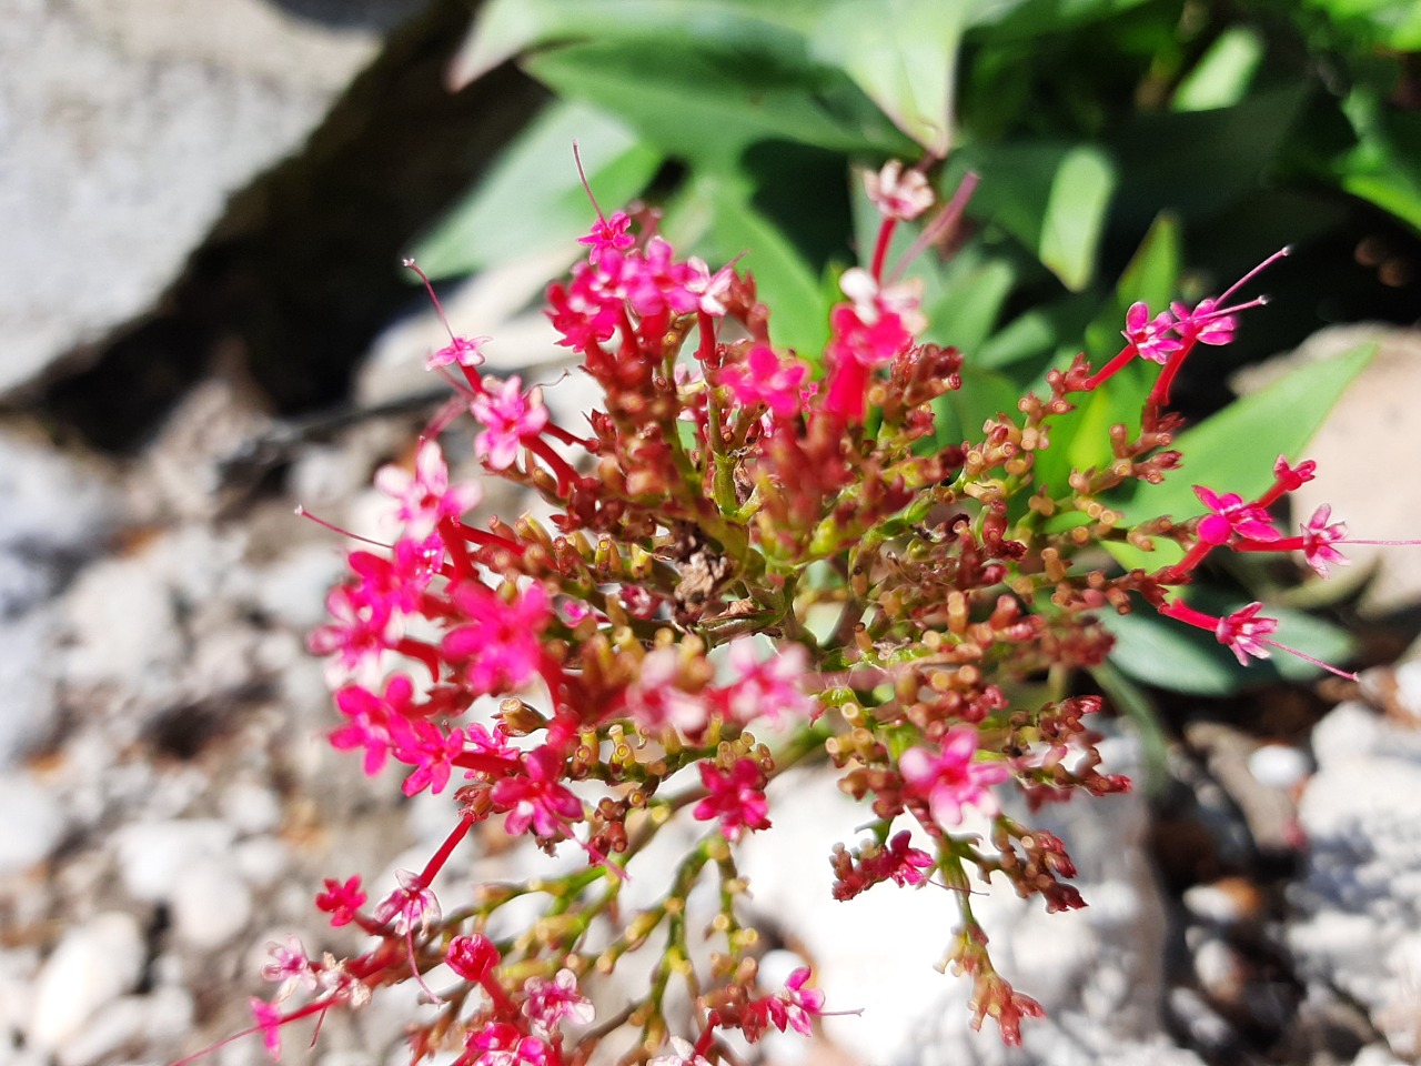
M 323 26 L 270 0 L 4 4 L 0 395 L 149 308 L 374 55 L 368 16 L 419 6 Z

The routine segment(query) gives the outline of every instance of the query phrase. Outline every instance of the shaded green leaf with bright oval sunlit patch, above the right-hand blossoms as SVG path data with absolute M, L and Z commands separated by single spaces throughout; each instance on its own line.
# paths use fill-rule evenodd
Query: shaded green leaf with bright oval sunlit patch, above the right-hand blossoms
M 1071 291 L 1094 274 L 1115 186 L 1108 156 L 1091 145 L 968 145 L 949 172 L 982 176 L 968 213 L 1009 230 Z

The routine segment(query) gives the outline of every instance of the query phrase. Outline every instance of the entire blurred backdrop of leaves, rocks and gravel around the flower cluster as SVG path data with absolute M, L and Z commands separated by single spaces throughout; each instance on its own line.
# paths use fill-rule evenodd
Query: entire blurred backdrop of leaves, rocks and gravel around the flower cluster
M 442 839 L 445 799 L 324 741 L 304 638 L 344 544 L 293 507 L 379 536 L 371 473 L 443 395 L 406 254 L 495 372 L 558 381 L 537 304 L 593 217 L 574 138 L 604 210 L 641 200 L 679 250 L 743 254 L 809 358 L 874 230 L 863 169 L 942 159 L 945 196 L 978 173 L 969 225 L 912 266 L 928 337 L 968 355 L 944 441 L 1114 354 L 1133 300 L 1194 303 L 1292 244 L 1175 399 L 1242 412 L 1211 470 L 1266 482 L 1276 441 L 1317 429 L 1303 509 L 1421 536 L 1414 3 L 0 0 L 0 1063 L 172 1062 L 244 1028 L 267 941 L 350 947 L 311 907 L 323 877 L 381 885 Z M 580 389 L 550 404 L 571 419 Z M 486 506 L 529 502 L 490 485 Z M 969 1033 L 965 986 L 931 972 L 946 901 L 826 903 L 855 814 L 827 826 L 831 782 L 797 780 L 776 817 L 796 861 L 747 856 L 756 912 L 865 1013 L 767 1057 L 1421 1059 L 1407 551 L 1327 586 L 1209 578 L 1280 603 L 1360 687 L 1121 621 L 1086 684 L 1141 787 L 1049 813 L 1093 905 L 983 901 L 1052 1013 L 1023 1049 Z M 462 861 L 455 884 L 489 876 Z M 408 1060 L 416 991 L 313 1048 L 290 1029 L 287 1060 Z

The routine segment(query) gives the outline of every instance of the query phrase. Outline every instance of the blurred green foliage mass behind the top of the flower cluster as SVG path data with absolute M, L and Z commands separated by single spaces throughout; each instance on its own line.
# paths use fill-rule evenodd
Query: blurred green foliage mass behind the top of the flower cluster
M 1243 293 L 1272 303 L 1178 382 L 1175 407 L 1199 416 L 1228 402 L 1241 362 L 1327 323 L 1415 320 L 1418 53 L 1412 0 L 489 0 L 453 81 L 514 61 L 557 102 L 416 254 L 439 277 L 556 247 L 571 259 L 568 235 L 591 217 L 577 136 L 607 210 L 644 196 L 678 249 L 743 256 L 772 335 L 814 358 L 837 276 L 877 227 L 857 171 L 926 156 L 944 198 L 968 171 L 982 179 L 952 246 L 908 267 L 928 338 L 969 355 L 939 411 L 944 441 L 1079 350 L 1100 365 L 1131 301 L 1192 304 L 1293 244 Z M 915 237 L 899 229 L 890 263 Z M 1276 398 L 1211 419 L 1266 432 L 1219 448 L 1218 428 L 1192 431 L 1191 472 L 1214 462 L 1219 488 L 1248 490 L 1280 448 L 1296 458 L 1364 361 L 1293 385 L 1289 419 Z M 1104 431 L 1148 389 L 1138 370 L 1043 458 L 1103 461 Z M 1167 488 L 1165 510 L 1196 510 L 1188 483 Z M 1152 638 L 1131 625 L 1125 651 Z

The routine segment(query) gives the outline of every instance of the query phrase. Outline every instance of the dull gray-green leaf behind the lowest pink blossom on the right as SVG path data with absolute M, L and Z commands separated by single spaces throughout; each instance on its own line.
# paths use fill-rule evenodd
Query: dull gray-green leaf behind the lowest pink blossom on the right
M 1189 601 L 1216 617 L 1243 605 L 1238 598 L 1226 600 L 1201 591 L 1195 591 Z M 1343 630 L 1320 618 L 1273 605 L 1265 607 L 1265 614 L 1279 620 L 1275 634 L 1279 642 L 1323 662 L 1340 667 L 1356 651 Z M 1165 618 L 1147 605 L 1127 615 L 1108 613 L 1100 621 L 1115 637 L 1110 662 L 1128 677 L 1157 688 L 1223 696 L 1279 678 L 1312 681 L 1322 672 L 1277 648 L 1272 650 L 1272 658 L 1241 665 L 1214 634 Z

